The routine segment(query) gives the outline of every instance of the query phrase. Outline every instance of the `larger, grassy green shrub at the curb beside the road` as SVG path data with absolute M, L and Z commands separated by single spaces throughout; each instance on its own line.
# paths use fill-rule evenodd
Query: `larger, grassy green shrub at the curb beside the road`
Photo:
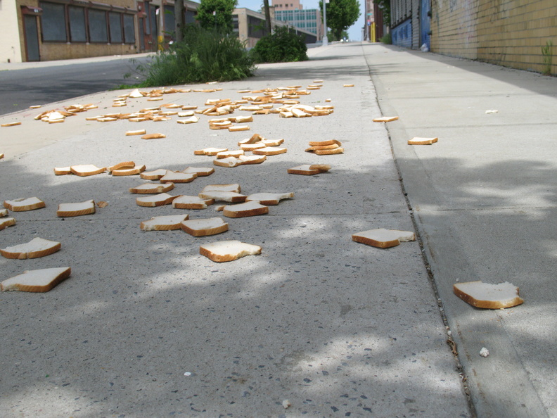
M 138 67 L 146 77 L 139 87 L 242 80 L 254 70 L 250 54 L 237 37 L 188 25 L 182 42 Z

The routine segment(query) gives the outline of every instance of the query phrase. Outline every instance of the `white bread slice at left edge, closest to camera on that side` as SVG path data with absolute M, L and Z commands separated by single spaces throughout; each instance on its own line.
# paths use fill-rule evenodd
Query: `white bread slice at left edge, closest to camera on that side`
M 2 281 L 0 289 L 1 291 L 48 292 L 60 281 L 68 279 L 71 273 L 70 267 L 28 270 Z

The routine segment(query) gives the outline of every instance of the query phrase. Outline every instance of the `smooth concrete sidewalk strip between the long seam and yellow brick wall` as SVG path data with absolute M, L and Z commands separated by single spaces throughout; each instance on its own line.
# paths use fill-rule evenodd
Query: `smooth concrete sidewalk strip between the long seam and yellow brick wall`
M 557 80 L 395 47 L 364 54 L 381 110 L 400 117 L 388 124 L 397 167 L 478 416 L 557 417 Z M 452 285 L 473 280 L 510 281 L 525 303 L 471 308 Z

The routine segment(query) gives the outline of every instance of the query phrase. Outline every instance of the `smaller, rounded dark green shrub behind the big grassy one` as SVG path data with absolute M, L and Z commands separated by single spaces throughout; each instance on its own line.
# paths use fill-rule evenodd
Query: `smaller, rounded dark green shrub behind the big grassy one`
M 252 49 L 258 63 L 286 63 L 307 61 L 307 46 L 302 35 L 288 30 L 288 27 L 274 28 L 272 34 L 262 37 Z

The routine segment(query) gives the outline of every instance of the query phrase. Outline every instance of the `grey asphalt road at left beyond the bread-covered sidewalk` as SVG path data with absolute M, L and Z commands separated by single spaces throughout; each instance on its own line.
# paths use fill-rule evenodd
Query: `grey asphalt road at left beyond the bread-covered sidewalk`
M 140 57 L 136 63 L 122 59 L 0 71 L 0 115 L 132 84 L 136 80 L 124 79 L 124 74 L 134 72 L 137 63 L 147 60 Z

